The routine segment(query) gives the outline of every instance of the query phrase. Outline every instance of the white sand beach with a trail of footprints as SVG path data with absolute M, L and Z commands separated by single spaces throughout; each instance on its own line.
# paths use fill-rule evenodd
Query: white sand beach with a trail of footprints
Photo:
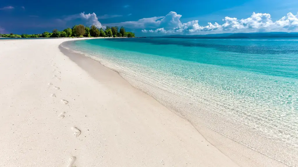
M 67 40 L 0 41 L 0 166 L 256 166 Z

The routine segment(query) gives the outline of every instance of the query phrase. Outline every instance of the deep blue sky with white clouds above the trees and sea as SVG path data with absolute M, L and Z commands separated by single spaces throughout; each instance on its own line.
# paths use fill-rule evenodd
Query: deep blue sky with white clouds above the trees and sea
M 136 36 L 298 32 L 298 1 L 0 0 L 0 34 L 40 34 L 75 24 L 125 27 Z

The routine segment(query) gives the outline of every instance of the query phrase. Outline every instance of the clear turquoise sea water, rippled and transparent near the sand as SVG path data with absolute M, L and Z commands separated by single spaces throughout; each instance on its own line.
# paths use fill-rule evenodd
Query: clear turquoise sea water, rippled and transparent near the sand
M 280 160 L 298 164 L 297 38 L 111 38 L 65 46 L 216 112 L 240 129 L 270 140 L 277 149 L 291 149 L 291 155 Z M 201 108 L 193 111 L 199 114 Z M 240 141 L 238 134 L 214 130 L 279 159 L 266 146 L 259 149 L 257 144 L 250 146 L 252 141 Z

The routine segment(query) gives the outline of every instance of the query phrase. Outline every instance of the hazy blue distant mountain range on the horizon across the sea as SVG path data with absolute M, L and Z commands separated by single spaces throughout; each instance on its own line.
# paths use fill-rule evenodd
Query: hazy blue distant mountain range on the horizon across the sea
M 284 38 L 298 37 L 298 32 L 252 32 L 252 33 L 224 33 L 207 35 L 166 35 L 153 38 Z M 147 37 L 148 38 L 148 37 Z

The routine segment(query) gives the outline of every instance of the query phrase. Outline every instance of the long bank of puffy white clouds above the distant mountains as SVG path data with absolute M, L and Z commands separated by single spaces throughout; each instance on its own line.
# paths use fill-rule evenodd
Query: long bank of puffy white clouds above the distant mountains
M 237 19 L 225 17 L 223 24 L 208 23 L 207 26 L 200 26 L 198 20 L 181 23 L 182 15 L 176 12 L 169 12 L 164 17 L 153 21 L 153 18 L 143 18 L 138 21 L 122 22 L 133 28 L 142 28 L 142 32 L 151 33 L 187 33 L 187 34 L 210 34 L 222 32 L 269 32 L 269 31 L 298 31 L 298 13 L 293 15 L 291 12 L 280 20 L 272 21 L 268 13 L 253 12 L 249 18 Z M 146 27 L 150 24 L 151 27 Z M 156 28 L 155 30 L 146 30 L 145 28 Z

